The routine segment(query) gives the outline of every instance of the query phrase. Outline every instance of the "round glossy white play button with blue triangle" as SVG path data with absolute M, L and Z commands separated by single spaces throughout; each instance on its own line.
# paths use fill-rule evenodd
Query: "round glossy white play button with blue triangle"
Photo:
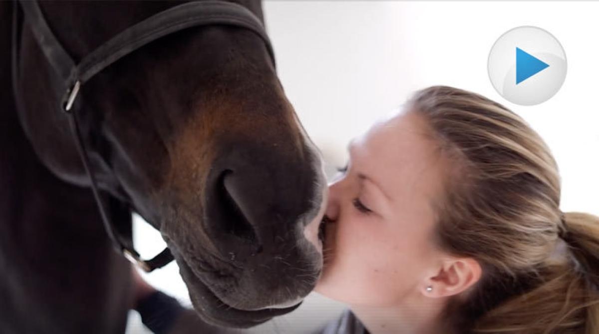
M 489 78 L 508 101 L 536 105 L 558 92 L 565 80 L 564 49 L 541 28 L 514 28 L 495 42 L 489 53 Z

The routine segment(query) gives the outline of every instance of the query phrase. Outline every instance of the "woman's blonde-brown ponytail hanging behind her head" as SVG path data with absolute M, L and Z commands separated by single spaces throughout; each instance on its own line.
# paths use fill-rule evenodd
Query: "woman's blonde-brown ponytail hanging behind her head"
M 564 223 L 561 261 L 520 275 L 519 286 L 533 289 L 485 312 L 471 333 L 599 333 L 599 217 L 568 212 Z

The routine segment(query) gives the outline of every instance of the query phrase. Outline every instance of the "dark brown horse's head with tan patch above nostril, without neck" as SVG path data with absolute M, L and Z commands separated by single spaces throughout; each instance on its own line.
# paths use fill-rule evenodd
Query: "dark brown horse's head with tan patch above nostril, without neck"
M 173 2 L 43 2 L 81 59 Z M 258 1 L 243 5 L 262 17 Z M 41 161 L 89 186 L 53 69 L 32 32 L 20 45 L 20 120 Z M 319 152 L 285 97 L 264 41 L 235 26 L 160 38 L 81 87 L 80 127 L 99 187 L 158 229 L 194 308 L 252 326 L 289 312 L 322 269 L 326 201 Z

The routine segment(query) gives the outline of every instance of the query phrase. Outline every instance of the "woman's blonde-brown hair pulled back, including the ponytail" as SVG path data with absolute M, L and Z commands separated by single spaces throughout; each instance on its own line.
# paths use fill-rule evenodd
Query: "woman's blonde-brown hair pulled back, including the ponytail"
M 437 202 L 441 248 L 476 259 L 480 281 L 447 315 L 459 333 L 599 333 L 599 218 L 559 210 L 555 160 L 518 115 L 476 93 L 416 92 L 454 168 Z

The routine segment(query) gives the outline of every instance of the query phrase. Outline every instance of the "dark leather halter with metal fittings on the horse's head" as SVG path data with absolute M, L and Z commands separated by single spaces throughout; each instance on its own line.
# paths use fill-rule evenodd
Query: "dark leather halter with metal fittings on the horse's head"
M 138 50 L 144 45 L 165 37 L 174 32 L 196 26 L 214 26 L 227 25 L 238 28 L 248 29 L 254 32 L 264 41 L 268 53 L 274 65 L 274 53 L 270 40 L 264 30 L 261 21 L 247 8 L 220 0 L 207 0 L 201 2 L 187 2 L 177 5 L 155 14 L 125 31 L 120 32 L 91 53 L 75 63 L 68 52 L 60 45 L 60 42 L 52 33 L 50 27 L 44 19 L 44 15 L 37 3 L 37 0 L 16 0 L 13 8 L 13 90 L 17 102 L 17 108 L 21 108 L 19 95 L 17 93 L 17 58 L 20 29 L 18 18 L 18 7 L 25 13 L 27 23 L 40 45 L 46 59 L 55 70 L 56 77 L 53 78 L 53 89 L 55 91 L 55 101 L 60 110 L 68 115 L 71 130 L 83 165 L 92 187 L 93 196 L 102 217 L 104 228 L 108 237 L 113 242 L 114 247 L 119 253 L 122 253 L 131 262 L 138 265 L 146 272 L 151 272 L 156 268 L 162 268 L 173 260 L 173 255 L 168 248 L 165 248 L 160 254 L 150 260 L 143 260 L 140 254 L 135 251 L 132 241 L 125 241 L 125 238 L 118 235 L 114 225 L 102 204 L 99 195 L 98 184 L 91 169 L 89 156 L 81 136 L 78 126 L 78 111 L 81 109 L 81 99 L 77 99 L 79 90 L 86 81 L 93 78 L 94 75 L 110 66 L 120 58 L 126 56 L 132 51 Z

